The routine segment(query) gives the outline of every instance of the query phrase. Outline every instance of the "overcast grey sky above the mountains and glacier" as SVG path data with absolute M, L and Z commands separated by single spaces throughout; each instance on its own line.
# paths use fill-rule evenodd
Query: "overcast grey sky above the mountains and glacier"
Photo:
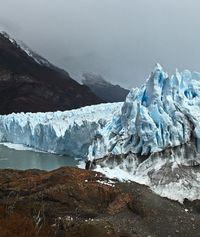
M 77 80 L 140 86 L 156 62 L 200 71 L 199 0 L 0 0 L 0 28 Z

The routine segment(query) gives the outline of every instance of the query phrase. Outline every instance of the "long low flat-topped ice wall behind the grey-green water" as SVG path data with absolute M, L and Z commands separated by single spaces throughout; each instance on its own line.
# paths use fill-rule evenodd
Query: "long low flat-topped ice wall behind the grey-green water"
M 0 116 L 0 142 L 85 157 L 96 131 L 119 113 L 122 103 L 86 106 L 65 112 L 18 113 Z

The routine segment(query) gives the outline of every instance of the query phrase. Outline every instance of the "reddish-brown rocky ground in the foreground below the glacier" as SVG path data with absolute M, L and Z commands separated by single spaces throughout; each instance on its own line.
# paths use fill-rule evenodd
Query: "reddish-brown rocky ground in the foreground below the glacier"
M 193 237 L 199 223 L 199 201 L 181 205 L 100 173 L 0 171 L 1 237 Z

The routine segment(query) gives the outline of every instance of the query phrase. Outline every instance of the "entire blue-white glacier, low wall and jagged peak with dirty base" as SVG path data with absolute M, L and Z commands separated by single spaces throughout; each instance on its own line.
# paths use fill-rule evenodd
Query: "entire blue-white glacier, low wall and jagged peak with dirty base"
M 124 103 L 2 115 L 0 142 L 87 157 L 110 178 L 179 202 L 200 199 L 200 73 L 169 76 L 157 64 Z

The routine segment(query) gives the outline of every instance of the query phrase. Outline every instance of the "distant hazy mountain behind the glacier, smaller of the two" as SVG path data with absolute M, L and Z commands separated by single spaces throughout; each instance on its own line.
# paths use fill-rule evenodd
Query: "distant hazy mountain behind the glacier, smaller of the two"
M 88 86 L 95 95 L 106 102 L 124 101 L 129 93 L 129 90 L 107 82 L 101 75 L 84 73 L 83 77 L 82 83 Z

